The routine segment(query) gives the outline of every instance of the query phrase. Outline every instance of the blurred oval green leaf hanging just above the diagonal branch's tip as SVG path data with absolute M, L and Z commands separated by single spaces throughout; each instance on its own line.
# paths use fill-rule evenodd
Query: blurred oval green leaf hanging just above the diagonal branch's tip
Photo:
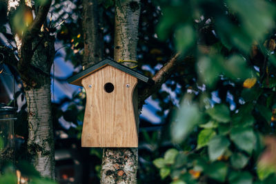
M 184 52 L 195 42 L 195 30 L 189 24 L 181 25 L 175 30 L 175 43 L 179 52 Z

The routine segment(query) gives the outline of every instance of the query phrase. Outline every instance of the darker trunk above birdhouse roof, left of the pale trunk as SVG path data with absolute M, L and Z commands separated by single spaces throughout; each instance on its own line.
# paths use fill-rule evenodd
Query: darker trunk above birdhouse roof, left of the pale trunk
M 103 7 L 97 0 L 83 0 L 83 69 L 103 59 Z

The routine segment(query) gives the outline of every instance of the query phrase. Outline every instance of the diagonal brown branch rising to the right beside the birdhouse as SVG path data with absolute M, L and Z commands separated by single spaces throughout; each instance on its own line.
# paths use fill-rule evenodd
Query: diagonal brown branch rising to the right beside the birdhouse
M 191 60 L 193 57 L 184 58 L 180 53 L 175 54 L 175 56 L 170 59 L 156 74 L 152 77 L 152 80 L 155 81 L 154 85 L 150 85 L 147 88 L 144 88 L 141 92 L 139 92 L 138 105 L 139 109 L 141 109 L 142 105 L 144 105 L 144 101 L 148 99 L 150 95 L 161 88 L 161 85 L 165 83 L 175 69 L 183 62 L 187 60 Z

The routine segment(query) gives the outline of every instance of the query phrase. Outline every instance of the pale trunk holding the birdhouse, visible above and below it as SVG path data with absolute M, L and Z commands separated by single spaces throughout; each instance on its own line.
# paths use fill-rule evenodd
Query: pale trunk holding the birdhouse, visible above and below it
M 140 1 L 119 1 L 115 5 L 115 61 L 134 67 L 136 61 Z M 133 96 L 137 103 L 137 94 Z M 138 110 L 136 110 L 138 111 Z M 138 113 L 137 113 L 138 114 Z M 101 164 L 101 183 L 137 183 L 137 148 L 104 148 Z

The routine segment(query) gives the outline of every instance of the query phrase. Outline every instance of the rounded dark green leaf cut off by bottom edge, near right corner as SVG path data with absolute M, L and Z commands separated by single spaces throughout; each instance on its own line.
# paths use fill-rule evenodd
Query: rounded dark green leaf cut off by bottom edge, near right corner
M 253 176 L 249 172 L 231 172 L 229 181 L 231 184 L 252 184 Z

